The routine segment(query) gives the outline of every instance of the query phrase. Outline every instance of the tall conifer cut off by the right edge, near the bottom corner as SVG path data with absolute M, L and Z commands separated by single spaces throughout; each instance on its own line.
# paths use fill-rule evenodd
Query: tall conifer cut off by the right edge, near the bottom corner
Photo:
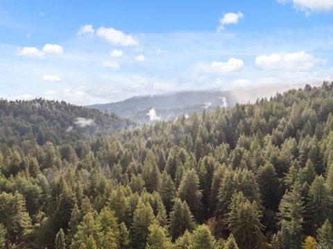
M 333 198 L 323 176 L 316 176 L 307 196 L 307 230 L 314 234 L 327 218 L 332 219 Z

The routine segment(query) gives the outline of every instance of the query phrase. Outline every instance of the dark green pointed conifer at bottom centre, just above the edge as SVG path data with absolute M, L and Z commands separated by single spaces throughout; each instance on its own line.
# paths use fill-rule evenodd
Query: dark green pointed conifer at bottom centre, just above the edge
M 191 231 L 194 229 L 194 219 L 189 207 L 185 201 L 182 203 L 179 198 L 176 198 L 170 213 L 169 228 L 172 241 L 175 241 L 186 230 Z

